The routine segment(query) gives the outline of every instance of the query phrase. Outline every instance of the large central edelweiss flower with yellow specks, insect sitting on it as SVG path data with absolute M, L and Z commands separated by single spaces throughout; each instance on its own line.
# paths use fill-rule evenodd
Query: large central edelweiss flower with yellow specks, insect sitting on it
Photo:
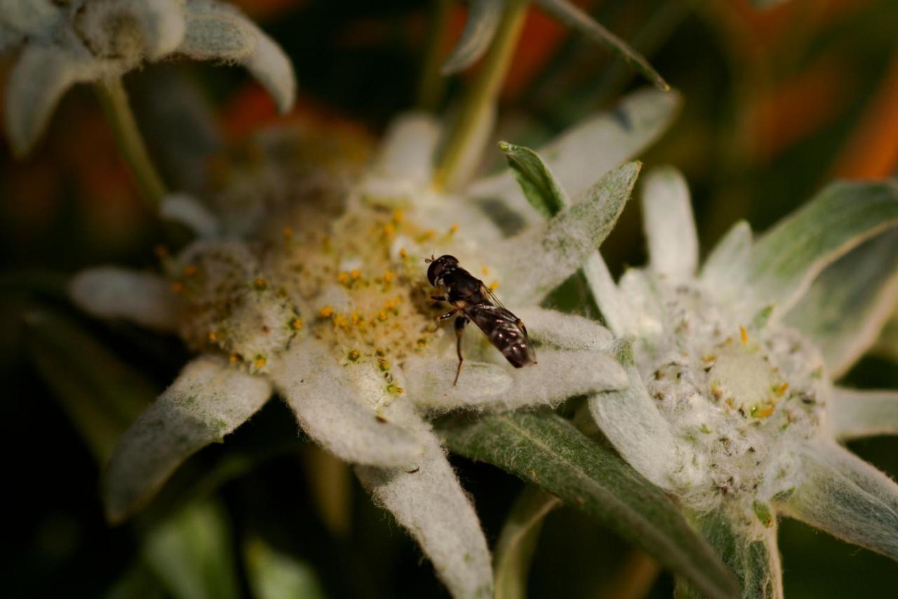
M 636 94 L 618 111 L 629 121 L 590 121 L 552 155 L 567 160 L 591 148 L 594 179 L 653 139 L 675 104 Z M 200 353 L 124 435 L 108 473 L 111 520 L 145 504 L 191 453 L 221 441 L 276 391 L 306 434 L 357 465 L 453 595 L 491 595 L 487 543 L 427 416 L 551 406 L 627 383 L 603 326 L 538 305 L 611 230 L 639 167 L 620 166 L 591 187 L 578 186 L 587 176 L 578 174 L 581 201 L 506 238 L 480 210 L 496 209 L 485 192 L 429 189 L 439 134 L 427 117 L 402 118 L 348 194 L 327 179 L 281 181 L 291 201 L 262 219 L 251 240 L 198 241 L 166 262 L 166 277 L 104 268 L 75 279 L 72 295 L 92 314 L 177 331 Z M 621 141 L 610 146 L 616 157 L 603 158 L 600 144 L 613 139 Z M 445 307 L 429 299 L 435 290 L 423 262 L 435 253 L 456 255 L 499 284 L 537 344 L 537 365 L 515 370 L 484 335 L 468 331 L 453 386 L 455 339 L 436 322 Z

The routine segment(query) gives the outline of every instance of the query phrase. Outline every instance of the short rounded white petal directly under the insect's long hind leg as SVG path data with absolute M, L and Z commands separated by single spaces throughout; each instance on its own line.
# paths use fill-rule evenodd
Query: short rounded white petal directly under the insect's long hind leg
M 402 366 L 405 389 L 416 406 L 432 410 L 489 405 L 511 388 L 505 369 L 465 361 L 453 385 L 458 361 L 448 358 L 411 358 Z

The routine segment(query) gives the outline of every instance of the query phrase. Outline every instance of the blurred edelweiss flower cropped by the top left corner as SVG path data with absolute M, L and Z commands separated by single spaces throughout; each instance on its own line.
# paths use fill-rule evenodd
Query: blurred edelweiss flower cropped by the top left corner
M 217 0 L 4 0 L 0 52 L 22 46 L 6 90 L 5 124 L 23 156 L 76 83 L 109 80 L 145 61 L 188 57 L 247 67 L 281 111 L 295 95 L 277 44 Z

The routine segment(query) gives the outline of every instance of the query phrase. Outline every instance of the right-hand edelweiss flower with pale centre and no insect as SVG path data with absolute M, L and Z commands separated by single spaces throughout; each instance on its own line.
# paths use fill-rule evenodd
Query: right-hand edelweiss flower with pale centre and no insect
M 650 174 L 643 209 L 647 268 L 585 266 L 626 340 L 629 387 L 589 399 L 603 433 L 744 596 L 782 595 L 778 514 L 898 559 L 898 486 L 838 444 L 898 432 L 898 393 L 833 383 L 898 297 L 898 184 L 834 183 L 757 241 L 741 222 L 700 269 L 681 175 Z

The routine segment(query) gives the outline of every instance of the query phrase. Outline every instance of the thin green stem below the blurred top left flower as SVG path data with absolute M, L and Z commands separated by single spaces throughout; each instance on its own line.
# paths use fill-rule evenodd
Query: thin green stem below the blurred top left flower
M 156 171 L 144 138 L 140 135 L 137 122 L 128 104 L 128 93 L 121 79 L 116 77 L 94 85 L 103 112 L 110 121 L 119 151 L 140 188 L 144 200 L 151 209 L 158 210 L 163 197 L 168 193 L 162 177 Z

